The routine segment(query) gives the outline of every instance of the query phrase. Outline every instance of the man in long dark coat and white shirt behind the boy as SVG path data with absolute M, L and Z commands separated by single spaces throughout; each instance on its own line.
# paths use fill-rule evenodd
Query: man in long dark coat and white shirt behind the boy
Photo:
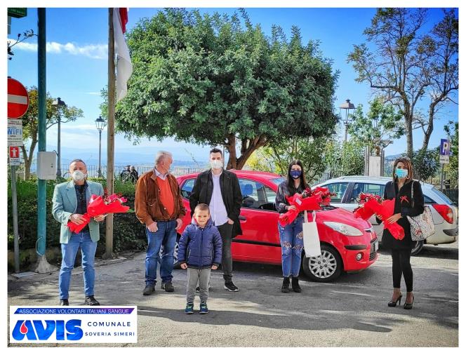
M 223 169 L 222 151 L 213 148 L 210 152 L 211 169 L 200 173 L 189 196 L 191 215 L 199 203 L 206 203 L 211 218 L 222 236 L 222 271 L 225 290 L 237 292 L 232 281 L 232 239 L 242 234 L 239 225 L 241 210 L 241 188 L 237 175 Z

